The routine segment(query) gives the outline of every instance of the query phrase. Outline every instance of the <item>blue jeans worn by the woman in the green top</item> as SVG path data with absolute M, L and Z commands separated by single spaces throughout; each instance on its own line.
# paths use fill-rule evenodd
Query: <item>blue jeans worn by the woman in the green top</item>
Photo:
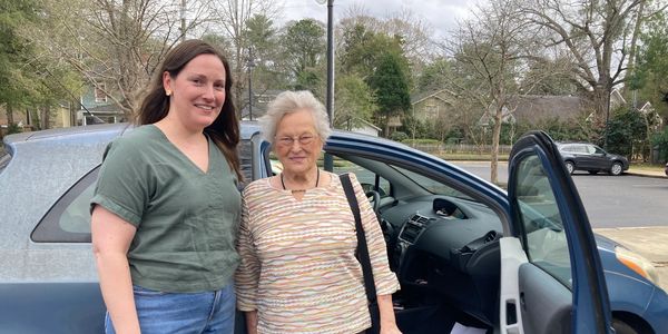
M 143 334 L 234 333 L 234 285 L 203 293 L 165 293 L 132 286 Z M 107 312 L 105 333 L 115 334 Z

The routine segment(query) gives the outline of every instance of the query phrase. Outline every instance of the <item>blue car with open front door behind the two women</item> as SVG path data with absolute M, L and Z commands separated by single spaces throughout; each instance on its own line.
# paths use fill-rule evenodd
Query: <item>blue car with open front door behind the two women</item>
M 88 200 L 106 145 L 130 130 L 102 125 L 4 138 L 0 332 L 102 333 Z M 275 173 L 257 125 L 244 122 L 242 137 L 246 183 Z M 401 283 L 393 299 L 403 333 L 668 327 L 668 296 L 651 268 L 592 234 L 546 134 L 513 146 L 508 193 L 386 139 L 335 131 L 324 150 L 334 173 L 357 175 L 377 213 Z M 244 322 L 237 325 L 245 333 Z

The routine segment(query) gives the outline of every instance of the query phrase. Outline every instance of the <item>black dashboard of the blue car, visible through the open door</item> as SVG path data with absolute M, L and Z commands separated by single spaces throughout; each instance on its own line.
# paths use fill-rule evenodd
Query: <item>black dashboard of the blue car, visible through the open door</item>
M 495 322 L 502 232 L 494 212 L 473 200 L 429 195 L 385 204 L 380 217 L 402 289 L 423 296 L 405 303 L 424 306 L 439 295 L 479 321 Z

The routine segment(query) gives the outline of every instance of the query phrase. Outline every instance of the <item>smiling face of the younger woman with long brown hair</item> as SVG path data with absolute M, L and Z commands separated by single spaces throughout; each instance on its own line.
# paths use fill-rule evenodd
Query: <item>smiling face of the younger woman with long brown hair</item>
M 163 75 L 165 91 L 171 92 L 168 118 L 186 128 L 204 129 L 220 114 L 225 102 L 225 67 L 215 55 L 199 55 L 176 77 Z

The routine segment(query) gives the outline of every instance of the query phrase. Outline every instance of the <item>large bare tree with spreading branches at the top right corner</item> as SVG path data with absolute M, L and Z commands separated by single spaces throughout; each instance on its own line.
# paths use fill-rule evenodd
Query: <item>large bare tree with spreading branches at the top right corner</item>
M 523 4 L 532 23 L 551 31 L 546 46 L 559 46 L 574 60 L 572 72 L 591 94 L 599 126 L 609 111 L 610 91 L 627 77 L 641 21 L 650 14 L 644 13 L 649 2 L 531 0 Z

